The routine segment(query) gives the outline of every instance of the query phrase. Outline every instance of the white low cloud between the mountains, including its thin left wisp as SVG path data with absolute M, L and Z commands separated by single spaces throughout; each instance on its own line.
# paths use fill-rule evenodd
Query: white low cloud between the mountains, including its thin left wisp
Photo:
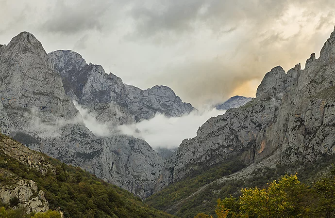
M 146 140 L 153 149 L 168 148 L 175 149 L 184 139 L 193 138 L 197 135 L 198 128 L 209 118 L 224 114 L 225 110 L 202 109 L 193 111 L 182 117 L 166 117 L 157 113 L 150 120 L 143 120 L 130 125 L 115 125 L 100 123 L 94 114 L 89 113 L 77 102 L 73 102 L 83 117 L 85 126 L 97 136 L 113 136 L 116 134 L 134 136 Z

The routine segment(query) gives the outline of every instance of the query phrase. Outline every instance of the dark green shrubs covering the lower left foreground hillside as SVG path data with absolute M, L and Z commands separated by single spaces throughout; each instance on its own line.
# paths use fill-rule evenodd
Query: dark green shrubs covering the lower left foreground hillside
M 0 146 L 3 143 L 1 135 Z M 0 169 L 12 171 L 17 177 L 33 180 L 45 197 L 51 210 L 60 209 L 71 218 L 167 218 L 173 217 L 146 204 L 132 193 L 108 184 L 79 167 L 67 166 L 45 156 L 55 167 L 46 175 L 30 169 L 17 159 L 1 152 Z M 13 184 L 13 178 L 0 174 L 0 185 Z

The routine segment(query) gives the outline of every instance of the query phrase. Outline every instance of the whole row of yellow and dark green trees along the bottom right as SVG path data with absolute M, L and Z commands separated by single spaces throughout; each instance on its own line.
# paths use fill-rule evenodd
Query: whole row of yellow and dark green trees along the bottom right
M 285 175 L 268 187 L 244 188 L 238 198 L 218 199 L 218 218 L 334 218 L 335 170 L 308 186 L 297 175 Z M 213 218 L 198 214 L 195 218 Z

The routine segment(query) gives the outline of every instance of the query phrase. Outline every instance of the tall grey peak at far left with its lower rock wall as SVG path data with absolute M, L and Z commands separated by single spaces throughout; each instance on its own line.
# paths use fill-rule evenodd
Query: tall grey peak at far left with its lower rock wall
M 162 158 L 143 140 L 93 135 L 31 33 L 22 32 L 0 48 L 0 99 L 2 133 L 142 198 L 153 193 Z

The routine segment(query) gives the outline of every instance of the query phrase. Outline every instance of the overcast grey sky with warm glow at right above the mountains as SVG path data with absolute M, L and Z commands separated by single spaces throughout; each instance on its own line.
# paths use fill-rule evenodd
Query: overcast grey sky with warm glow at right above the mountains
M 29 31 L 196 107 L 254 97 L 272 67 L 318 57 L 334 25 L 334 0 L 0 0 L 0 44 Z

